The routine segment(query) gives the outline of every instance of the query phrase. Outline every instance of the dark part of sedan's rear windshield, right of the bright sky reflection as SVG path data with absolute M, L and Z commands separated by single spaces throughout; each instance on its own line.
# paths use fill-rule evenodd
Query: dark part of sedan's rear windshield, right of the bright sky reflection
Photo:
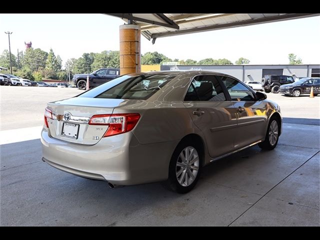
M 142 99 L 145 100 L 161 89 L 176 75 L 155 74 L 139 75 L 107 89 L 96 97 L 99 98 L 122 98 L 122 99 Z

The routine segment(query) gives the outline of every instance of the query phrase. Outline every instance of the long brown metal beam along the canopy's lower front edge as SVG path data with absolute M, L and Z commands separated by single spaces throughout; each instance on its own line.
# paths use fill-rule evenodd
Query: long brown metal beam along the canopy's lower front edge
M 260 24 L 260 23 L 288 20 L 288 19 L 297 19 L 302 17 L 318 16 L 318 15 L 320 14 L 319 13 L 290 13 L 290 14 L 283 14 L 283 15 L 277 15 L 277 16 L 242 20 L 237 22 L 229 22 L 229 23 L 222 23 L 222 24 L 216 24 L 216 25 L 210 25 L 210 26 L 182 29 L 182 30 L 176 30 L 176 31 L 153 33 L 151 34 L 151 38 L 164 37 L 164 36 L 170 36 L 170 35 L 181 35 L 181 34 L 187 34 L 187 33 L 193 33 L 193 32 L 200 32 L 200 31 L 217 30 L 217 29 L 231 28 L 231 27 L 237 27 L 237 26 L 247 26 L 247 25 L 253 25 L 253 24 Z

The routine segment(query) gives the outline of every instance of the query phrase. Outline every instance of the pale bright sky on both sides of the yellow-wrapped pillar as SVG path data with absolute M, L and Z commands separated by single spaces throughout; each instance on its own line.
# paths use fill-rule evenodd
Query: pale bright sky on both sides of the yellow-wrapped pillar
M 0 53 L 25 50 L 24 41 L 60 55 L 63 63 L 84 52 L 119 50 L 119 25 L 124 21 L 99 13 L 0 14 Z M 222 30 L 157 38 L 155 44 L 141 36 L 141 53 L 157 51 L 169 58 L 200 60 L 239 57 L 250 64 L 287 64 L 294 53 L 304 64 L 320 63 L 320 16 Z

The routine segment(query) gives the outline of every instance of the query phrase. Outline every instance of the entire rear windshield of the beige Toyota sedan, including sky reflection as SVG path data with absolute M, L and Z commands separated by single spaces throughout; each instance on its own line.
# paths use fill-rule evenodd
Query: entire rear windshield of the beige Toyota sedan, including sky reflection
M 148 99 L 173 79 L 176 74 L 121 76 L 101 84 L 79 97 Z M 122 79 L 121 79 L 122 78 Z M 115 84 L 114 84 L 115 83 Z

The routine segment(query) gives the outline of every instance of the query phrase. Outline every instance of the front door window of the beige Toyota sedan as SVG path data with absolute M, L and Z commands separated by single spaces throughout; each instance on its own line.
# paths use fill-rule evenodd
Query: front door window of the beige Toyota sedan
M 228 90 L 232 101 L 254 101 L 252 91 L 239 81 L 225 77 L 222 82 Z

